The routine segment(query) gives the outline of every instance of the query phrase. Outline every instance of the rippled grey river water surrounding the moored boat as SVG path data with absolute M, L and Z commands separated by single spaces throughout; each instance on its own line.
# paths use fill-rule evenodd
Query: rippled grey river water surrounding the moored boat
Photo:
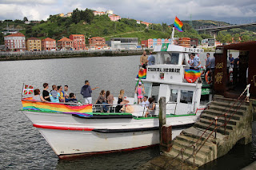
M 201 56 L 202 61 L 206 54 Z M 94 90 L 93 99 L 101 89 L 117 96 L 120 89 L 134 92 L 139 56 L 84 57 L 34 61 L 0 62 L 0 169 L 136 169 L 158 156 L 158 148 L 134 152 L 118 152 L 59 160 L 46 140 L 23 115 L 22 85 L 43 89 L 49 85 L 69 85 L 70 92 L 80 93 L 85 80 Z M 78 98 L 81 98 L 78 96 Z M 256 124 L 253 123 L 254 129 Z M 253 142 L 235 146 L 226 156 L 207 164 L 206 169 L 240 169 L 256 160 L 256 132 Z

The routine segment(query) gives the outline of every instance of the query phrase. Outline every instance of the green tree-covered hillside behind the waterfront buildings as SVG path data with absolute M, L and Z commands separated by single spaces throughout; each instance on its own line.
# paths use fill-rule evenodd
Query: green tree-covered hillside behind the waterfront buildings
M 176 38 L 198 38 L 201 41 L 203 38 L 212 38 L 210 34 L 198 34 L 196 30 L 189 25 L 189 21 L 182 21 L 183 32 L 175 30 L 174 37 Z M 138 41 L 148 38 L 170 38 L 172 26 L 166 23 L 153 24 L 146 27 L 144 24 L 137 24 L 134 19 L 122 18 L 118 22 L 110 21 L 107 15 L 94 16 L 93 10 L 74 10 L 70 18 L 61 18 L 58 15 L 50 15 L 47 21 L 40 23 L 24 24 L 24 20 L 6 20 L 0 23 L 1 32 L 4 31 L 6 24 L 9 27 L 24 28 L 21 30 L 26 38 L 54 38 L 59 40 L 63 37 L 69 38 L 70 34 L 84 34 L 86 41 L 91 37 L 103 37 L 106 40 L 110 38 L 138 38 Z M 193 21 L 194 27 L 200 26 L 227 26 L 226 22 L 216 22 L 211 20 Z M 244 29 L 232 29 L 221 31 L 217 39 L 221 42 L 231 42 L 232 38 L 238 39 L 242 37 L 242 41 L 255 40 L 254 32 Z M 3 35 L 0 34 L 0 44 L 4 44 Z

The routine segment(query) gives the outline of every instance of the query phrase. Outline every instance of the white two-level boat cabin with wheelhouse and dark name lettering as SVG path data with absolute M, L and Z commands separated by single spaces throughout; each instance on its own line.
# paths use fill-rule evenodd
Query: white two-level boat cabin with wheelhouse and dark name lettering
M 190 69 L 189 54 L 203 53 L 203 49 L 163 44 L 156 46 L 154 52 L 155 63 L 147 65 L 146 78 L 142 79 L 145 95 L 154 97 L 156 103 L 160 97 L 166 97 L 166 114 L 195 113 L 200 105 L 202 83 L 190 83 L 184 74 Z

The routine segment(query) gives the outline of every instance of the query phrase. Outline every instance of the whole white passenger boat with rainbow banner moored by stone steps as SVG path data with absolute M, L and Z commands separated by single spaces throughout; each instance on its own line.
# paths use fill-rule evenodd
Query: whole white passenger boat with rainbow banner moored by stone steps
M 154 96 L 157 101 L 166 97 L 166 124 L 172 125 L 174 138 L 182 129 L 193 125 L 206 107 L 200 105 L 202 83 L 189 83 L 184 78 L 185 69 L 189 69 L 189 53 L 203 50 L 164 44 L 154 51 L 157 53 L 155 65 L 147 66 L 146 79 L 142 81 L 148 97 Z M 170 57 L 170 64 L 165 64 L 167 57 Z M 92 105 L 66 106 L 26 98 L 22 99 L 22 113 L 60 158 L 159 144 L 159 105 L 156 105 L 156 117 L 143 117 L 146 109 L 134 105 L 136 99 L 132 97 L 127 100 L 133 113 L 95 113 Z M 54 105 L 65 111 L 53 112 Z M 90 111 L 83 112 L 79 107 L 88 107 Z

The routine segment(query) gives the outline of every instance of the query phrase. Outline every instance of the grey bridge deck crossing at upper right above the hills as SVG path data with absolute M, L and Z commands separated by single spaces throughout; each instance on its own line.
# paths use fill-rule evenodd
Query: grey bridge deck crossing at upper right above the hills
M 239 24 L 239 25 L 231 25 L 231 26 L 216 26 L 216 27 L 209 27 L 209 28 L 202 28 L 202 29 L 196 29 L 198 32 L 209 32 L 211 35 L 216 37 L 218 31 L 221 30 L 230 30 L 234 28 L 242 28 L 242 27 L 248 27 L 248 26 L 256 26 L 256 22 L 250 23 L 250 24 Z

